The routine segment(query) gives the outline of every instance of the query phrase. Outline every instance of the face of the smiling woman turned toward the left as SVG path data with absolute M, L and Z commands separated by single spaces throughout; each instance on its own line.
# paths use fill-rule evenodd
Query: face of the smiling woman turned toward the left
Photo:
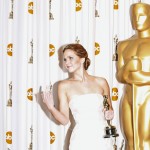
M 73 50 L 67 49 L 64 52 L 64 66 L 69 73 L 73 73 L 83 67 L 84 58 L 80 58 Z

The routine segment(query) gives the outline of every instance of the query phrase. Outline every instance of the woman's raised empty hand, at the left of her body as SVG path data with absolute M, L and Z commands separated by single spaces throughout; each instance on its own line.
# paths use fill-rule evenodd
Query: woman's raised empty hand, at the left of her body
M 47 107 L 52 110 L 54 108 L 54 100 L 53 93 L 51 91 L 44 91 L 41 93 L 43 102 L 47 105 Z

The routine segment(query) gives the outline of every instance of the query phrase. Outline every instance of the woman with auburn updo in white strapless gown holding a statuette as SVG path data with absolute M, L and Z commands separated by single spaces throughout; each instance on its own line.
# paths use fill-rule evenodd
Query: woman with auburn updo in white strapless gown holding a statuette
M 103 146 L 107 149 L 108 143 L 103 138 L 106 121 L 102 111 L 103 95 L 107 95 L 109 110 L 104 110 L 104 114 L 107 120 L 113 119 L 109 85 L 106 79 L 87 73 L 90 59 L 82 45 L 67 45 L 63 55 L 70 78 L 58 85 L 59 110 L 54 107 L 50 92 L 42 94 L 43 101 L 54 118 L 63 125 L 68 124 L 69 108 L 71 109 L 76 125 L 69 150 L 100 150 Z

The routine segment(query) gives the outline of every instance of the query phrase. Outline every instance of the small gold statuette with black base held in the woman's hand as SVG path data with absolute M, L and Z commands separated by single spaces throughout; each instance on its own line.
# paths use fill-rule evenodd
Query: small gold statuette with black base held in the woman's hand
M 109 104 L 107 102 L 108 96 L 104 95 L 103 98 L 104 98 L 103 106 L 104 106 L 105 110 L 107 111 L 107 110 L 109 110 Z M 107 120 L 107 124 L 108 124 L 108 126 L 105 127 L 104 138 L 110 138 L 110 137 L 117 137 L 117 136 L 119 136 L 119 134 L 117 133 L 116 127 L 111 125 L 110 120 Z

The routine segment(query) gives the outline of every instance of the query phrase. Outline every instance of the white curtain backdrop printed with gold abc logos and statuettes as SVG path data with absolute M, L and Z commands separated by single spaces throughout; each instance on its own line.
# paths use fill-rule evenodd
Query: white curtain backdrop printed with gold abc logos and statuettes
M 88 72 L 107 79 L 121 146 L 123 85 L 115 77 L 115 54 L 118 41 L 134 33 L 129 7 L 135 2 L 0 0 L 0 150 L 68 150 L 70 124 L 59 125 L 40 97 L 51 83 L 58 106 L 57 84 L 68 76 L 61 59 L 68 43 L 82 44 L 92 62 Z

